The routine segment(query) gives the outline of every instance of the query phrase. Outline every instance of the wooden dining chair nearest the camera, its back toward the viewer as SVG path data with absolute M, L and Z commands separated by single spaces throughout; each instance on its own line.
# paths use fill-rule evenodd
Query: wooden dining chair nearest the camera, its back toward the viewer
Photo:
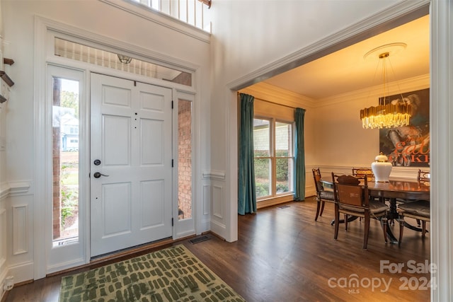
M 363 185 L 360 183 L 363 182 Z M 382 224 L 384 240 L 387 242 L 387 211 L 384 202 L 369 197 L 367 177 L 356 178 L 353 175 L 335 175 L 332 173 L 333 197 L 335 198 L 335 235 L 338 238 L 340 214 L 345 215 L 345 230 L 348 231 L 348 216 L 361 217 L 364 221 L 363 249 L 367 249 L 369 222 L 377 219 Z

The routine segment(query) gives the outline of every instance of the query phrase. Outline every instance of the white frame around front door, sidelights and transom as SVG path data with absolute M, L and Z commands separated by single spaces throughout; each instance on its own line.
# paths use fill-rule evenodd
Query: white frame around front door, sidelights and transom
M 34 70 L 34 79 L 35 79 L 35 86 L 34 86 L 34 95 L 35 95 L 35 137 L 40 138 L 40 139 L 35 139 L 35 196 L 34 196 L 34 207 L 33 207 L 33 263 L 31 263 L 31 267 L 33 267 L 33 278 L 34 279 L 41 279 L 45 277 L 45 275 L 48 273 L 47 269 L 47 257 L 46 257 L 46 250 L 47 250 L 47 245 L 48 245 L 48 239 L 47 234 L 52 231 L 50 229 L 50 224 L 49 221 L 52 217 L 50 217 L 51 211 L 48 210 L 48 200 L 52 200 L 52 192 L 49 190 L 49 188 L 52 186 L 52 183 L 49 183 L 47 180 L 47 175 L 49 173 L 52 173 L 52 163 L 51 163 L 51 156 L 50 153 L 47 149 L 47 144 L 48 141 L 51 139 L 49 137 L 49 134 L 47 133 L 47 129 L 49 127 L 49 117 L 48 117 L 48 108 L 47 108 L 47 102 L 44 100 L 46 99 L 47 95 L 47 85 L 46 85 L 46 74 L 47 74 L 47 64 L 52 64 L 55 66 L 62 66 L 64 68 L 69 68 L 69 69 L 79 69 L 81 71 L 84 71 L 84 91 L 83 91 L 83 98 L 85 100 L 89 100 L 89 91 L 90 91 L 90 85 L 89 85 L 89 74 L 90 72 L 98 72 L 101 74 L 109 74 L 110 76 L 118 76 L 121 78 L 125 79 L 131 79 L 132 81 L 141 81 L 143 83 L 149 83 L 151 85 L 158 85 L 158 86 L 164 86 L 168 88 L 173 88 L 177 91 L 177 93 L 188 93 L 188 95 L 194 95 L 195 98 L 194 100 L 197 100 L 196 97 L 196 91 L 195 87 L 189 87 L 189 86 L 183 86 L 177 83 L 171 83 L 168 81 L 162 81 L 159 79 L 151 79 L 145 76 L 139 76 L 136 74 L 128 74 L 123 71 L 117 71 L 113 69 L 108 69 L 107 67 L 103 66 L 96 66 L 93 64 L 88 64 L 84 62 L 77 62 L 71 59 L 65 59 L 62 57 L 57 57 L 53 54 L 54 50 L 54 45 L 53 45 L 53 39 L 52 35 L 59 35 L 59 36 L 65 36 L 68 35 L 68 37 L 73 37 L 74 39 L 79 39 L 79 40 L 85 40 L 87 45 L 91 45 L 91 42 L 89 41 L 102 41 L 105 45 L 110 45 L 110 47 L 113 47 L 115 49 L 131 49 L 131 51 L 137 53 L 137 55 L 144 57 L 144 58 L 149 58 L 149 59 L 154 59 L 154 57 L 150 57 L 150 54 L 155 54 L 151 50 L 143 50 L 140 48 L 134 48 L 131 45 L 127 45 L 125 42 L 117 41 L 114 39 L 110 39 L 108 37 L 103 37 L 101 35 L 97 35 L 91 32 L 88 32 L 86 30 L 81 30 L 79 28 L 74 28 L 73 26 L 64 24 L 64 23 L 59 23 L 57 21 L 52 21 L 47 18 L 42 18 L 42 17 L 35 17 L 35 70 Z M 177 66 L 176 68 L 180 68 L 180 66 L 185 66 L 185 69 L 190 70 L 193 72 L 193 74 L 196 74 L 199 72 L 197 71 L 197 66 L 194 66 L 188 62 L 181 62 L 178 59 L 174 59 L 171 57 L 166 57 L 164 54 L 156 54 L 159 59 L 165 59 L 166 64 L 174 64 L 174 66 Z M 89 103 L 88 103 L 89 106 Z M 196 116 L 197 113 L 194 110 L 193 114 Z M 84 123 L 89 124 L 89 115 L 85 117 L 81 117 L 81 119 L 84 119 Z M 195 119 L 195 117 L 194 117 Z M 87 128 L 89 129 L 89 128 Z M 197 132 L 194 131 L 194 136 L 196 136 Z M 45 139 L 43 139 L 45 138 Z M 87 136 L 86 139 L 89 141 L 89 137 Z M 194 138 L 195 141 L 198 140 L 197 137 Z M 87 145 L 88 146 L 88 145 Z M 194 146 L 193 148 L 194 152 L 194 157 L 196 157 L 197 153 L 197 145 Z M 88 154 L 88 151 L 86 152 Z M 176 157 L 175 157 L 176 158 Z M 85 158 L 80 158 L 80 165 L 82 163 L 86 166 L 89 166 L 89 156 L 85 156 Z M 194 162 L 195 163 L 195 162 Z M 200 170 L 197 167 L 194 168 L 194 172 L 196 170 Z M 87 170 L 88 171 L 88 170 Z M 177 184 L 177 182 L 173 182 L 174 184 Z M 194 194 L 196 194 L 195 187 L 197 185 L 197 181 L 195 178 L 193 178 L 193 188 L 194 188 Z M 89 191 L 88 191 L 89 192 Z M 197 198 L 194 197 L 193 200 L 196 200 Z M 89 200 L 89 198 L 87 198 Z M 176 207 L 176 213 L 178 211 L 177 209 L 177 202 L 173 202 L 175 204 L 174 207 Z M 193 208 L 195 211 L 197 204 L 193 204 Z M 84 263 L 88 263 L 90 260 L 90 251 L 89 251 L 89 207 L 85 207 L 85 211 L 83 214 L 87 221 L 86 221 L 86 226 L 84 228 Z M 195 215 L 194 215 L 195 216 Z M 177 217 L 177 216 L 176 216 Z M 43 219 L 44 218 L 44 219 Z M 176 219 L 176 224 L 178 223 L 178 219 Z M 193 222 L 194 225 L 196 224 Z M 176 226 L 176 228 L 178 228 Z M 182 231 L 182 228 L 178 228 L 180 231 L 178 233 L 180 234 L 188 234 L 188 233 L 195 233 L 195 226 L 193 228 L 190 228 L 190 231 L 185 232 Z M 198 231 L 200 232 L 200 231 Z M 178 236 L 178 235 L 176 235 Z M 175 237 L 175 231 L 173 231 L 173 238 Z M 63 269 L 62 267 L 53 267 L 53 271 L 58 271 Z

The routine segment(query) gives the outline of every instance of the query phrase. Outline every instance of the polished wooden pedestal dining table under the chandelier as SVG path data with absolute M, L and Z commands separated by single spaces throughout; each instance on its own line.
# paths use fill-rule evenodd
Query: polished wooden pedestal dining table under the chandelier
M 324 187 L 333 189 L 332 180 L 321 180 Z M 363 182 L 362 182 L 363 183 Z M 370 197 L 377 197 L 383 202 L 389 201 L 389 213 L 387 218 L 392 221 L 398 219 L 397 202 L 412 202 L 415 200 L 430 201 L 430 182 L 410 180 L 406 178 L 390 178 L 388 182 L 377 182 L 369 180 L 367 182 L 368 194 Z M 404 221 L 404 226 L 414 231 L 421 231 L 421 228 L 412 226 Z M 387 228 L 387 235 L 391 243 L 398 243 L 398 240 Z

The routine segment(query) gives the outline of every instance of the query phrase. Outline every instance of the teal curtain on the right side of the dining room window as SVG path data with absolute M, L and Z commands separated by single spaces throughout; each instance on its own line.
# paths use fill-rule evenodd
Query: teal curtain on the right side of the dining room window
M 304 115 L 305 109 L 296 108 L 294 122 L 296 124 L 296 146 L 294 151 L 294 200 L 305 200 L 305 149 L 304 149 Z

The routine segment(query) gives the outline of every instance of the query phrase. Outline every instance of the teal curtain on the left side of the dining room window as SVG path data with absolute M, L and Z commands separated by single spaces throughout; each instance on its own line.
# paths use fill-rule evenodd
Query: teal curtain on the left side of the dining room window
M 255 166 L 253 152 L 252 95 L 239 93 L 241 100 L 241 128 L 239 129 L 238 213 L 256 213 Z

